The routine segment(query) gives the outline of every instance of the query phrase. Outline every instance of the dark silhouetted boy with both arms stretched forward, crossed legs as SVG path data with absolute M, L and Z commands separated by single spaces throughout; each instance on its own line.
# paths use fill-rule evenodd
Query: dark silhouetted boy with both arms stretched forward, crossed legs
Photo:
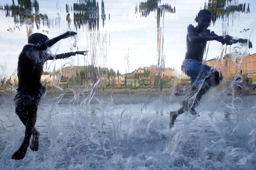
M 46 35 L 35 33 L 29 37 L 28 44 L 23 47 L 18 60 L 17 74 L 19 83 L 14 103 L 15 112 L 26 126 L 26 129 L 24 140 L 20 148 L 12 155 L 12 159 L 19 160 L 24 158 L 31 135 L 33 135 L 33 138 L 30 148 L 33 151 L 38 150 L 40 133 L 34 126 L 37 117 L 37 106 L 45 91 L 40 83 L 44 63 L 54 58 L 60 59 L 76 54 L 87 54 L 87 51 L 76 51 L 51 55 L 47 53 L 47 49 L 61 39 L 66 39 L 76 34 L 69 31 L 49 40 Z

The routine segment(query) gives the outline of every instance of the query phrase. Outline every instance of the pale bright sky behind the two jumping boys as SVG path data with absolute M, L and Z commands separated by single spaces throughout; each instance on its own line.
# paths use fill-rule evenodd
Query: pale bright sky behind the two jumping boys
M 75 38 L 61 40 L 51 47 L 52 54 L 70 52 L 75 50 L 89 50 L 86 61 L 83 55 L 71 57 L 70 59 L 59 59 L 56 61 L 48 61 L 44 66 L 44 71 L 51 71 L 54 68 L 60 68 L 65 63 L 71 65 L 84 65 L 91 62 L 93 54 L 92 46 L 96 49 L 97 65 L 113 68 L 120 73 L 132 72 L 140 66 L 149 66 L 157 64 L 157 20 L 156 12 L 151 12 L 148 17 L 141 17 L 141 13 L 135 13 L 135 6 L 139 7 L 139 0 L 107 0 L 104 1 L 106 21 L 102 24 L 100 17 L 99 30 L 93 35 L 99 35 L 92 39 L 92 34 L 86 29 L 76 30 L 73 22 L 73 12 L 70 12 L 71 25 L 68 27 L 66 21 L 65 6 L 73 6 L 77 0 L 38 0 L 39 12 L 47 14 L 54 21 L 54 28 L 44 27 L 42 24 L 37 30 L 34 26 L 33 33 L 43 33 L 43 30 L 49 31 L 46 34 L 50 39 L 54 38 L 66 31 L 76 31 L 78 34 Z M 165 55 L 165 67 L 175 67 L 180 72 L 182 61 L 186 53 L 186 34 L 189 24 L 197 25 L 194 18 L 200 9 L 204 8 L 205 0 L 162 0 L 161 4 L 169 4 L 175 6 L 176 13 L 165 13 L 160 19 L 161 31 L 164 35 L 163 54 Z M 256 3 L 253 0 L 239 0 L 237 3 L 250 3 L 250 13 L 241 14 L 234 13 L 229 18 L 229 26 L 223 27 L 222 20 L 217 20 L 208 28 L 218 35 L 222 35 L 223 30 L 227 30 L 229 35 L 236 38 L 249 38 L 253 44 L 253 48 L 248 53 L 256 53 L 254 44 L 256 42 L 256 31 L 253 27 L 256 23 Z M 0 5 L 10 4 L 9 0 L 1 0 Z M 15 1 L 17 5 L 17 1 Z M 101 1 L 99 1 L 99 14 L 101 16 Z M 110 15 L 110 19 L 109 19 Z M 23 46 L 27 43 L 26 24 L 20 26 L 15 25 L 13 18 L 5 17 L 5 11 L 0 10 L 0 75 L 11 75 L 17 68 L 19 53 Z M 14 32 L 8 32 L 9 28 L 16 28 Z M 244 29 L 250 29 L 244 31 Z M 251 34 L 251 35 L 250 35 Z M 96 40 L 96 42 L 94 42 Z M 235 44 L 236 45 L 236 44 Z M 228 49 L 235 47 L 228 46 Z M 75 47 L 74 47 L 75 46 Z M 208 46 L 208 44 L 207 44 Z M 102 50 L 104 49 L 104 50 Z M 128 52 L 129 49 L 129 52 Z M 220 56 L 222 45 L 219 42 L 211 41 L 206 59 L 212 59 Z M 129 57 L 128 57 L 129 53 Z M 67 64 L 67 65 L 69 65 Z M 1 78 L 1 77 L 0 77 Z

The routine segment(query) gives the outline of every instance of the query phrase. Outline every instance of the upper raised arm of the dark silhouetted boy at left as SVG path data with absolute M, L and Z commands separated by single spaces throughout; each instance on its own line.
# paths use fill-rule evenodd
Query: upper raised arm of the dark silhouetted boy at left
M 77 35 L 76 32 L 68 31 L 68 32 L 66 32 L 66 33 L 64 33 L 64 34 L 62 34 L 62 35 L 60 35 L 60 36 L 58 36 L 58 37 L 55 37 L 55 38 L 53 38 L 53 39 L 51 39 L 51 40 L 48 40 L 48 41 L 46 41 L 46 42 L 44 42 L 44 43 L 42 43 L 42 44 L 36 45 L 36 49 L 37 49 L 37 50 L 45 50 L 45 49 L 47 49 L 48 47 L 51 47 L 51 46 L 52 46 L 53 44 L 55 44 L 56 42 L 58 42 L 58 41 L 60 41 L 60 40 L 62 40 L 62 39 L 69 38 L 69 37 L 71 37 L 71 36 L 75 36 L 75 35 Z

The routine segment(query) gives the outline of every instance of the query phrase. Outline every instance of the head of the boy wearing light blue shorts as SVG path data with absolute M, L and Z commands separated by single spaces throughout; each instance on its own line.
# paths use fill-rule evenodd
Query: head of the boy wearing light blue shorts
M 208 9 L 202 9 L 197 14 L 195 21 L 198 23 L 199 29 L 207 29 L 211 23 L 211 12 Z

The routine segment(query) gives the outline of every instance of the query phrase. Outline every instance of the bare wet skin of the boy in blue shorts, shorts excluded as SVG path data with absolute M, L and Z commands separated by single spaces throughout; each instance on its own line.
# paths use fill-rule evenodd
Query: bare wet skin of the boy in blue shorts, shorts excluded
M 233 39 L 233 37 L 229 35 L 225 36 L 218 36 L 213 31 L 211 32 L 209 29 L 207 29 L 211 22 L 211 15 L 204 15 L 199 17 L 198 19 L 198 25 L 196 27 L 192 26 L 191 24 L 188 26 L 188 32 L 186 37 L 187 42 L 187 51 L 185 59 L 194 59 L 196 61 L 202 62 L 203 61 L 203 55 L 206 47 L 207 41 L 218 41 L 222 44 L 231 45 L 233 43 L 242 42 L 247 43 L 247 39 Z M 249 41 L 249 48 L 252 48 L 252 42 Z M 177 116 L 179 114 L 184 113 L 185 111 L 190 111 L 192 115 L 196 115 L 195 107 L 197 106 L 198 102 L 201 100 L 202 96 L 211 88 L 214 86 L 217 86 L 219 82 L 222 80 L 222 75 L 219 74 L 218 71 L 211 74 L 209 77 L 207 77 L 201 89 L 195 90 L 192 89 L 192 92 L 190 94 L 190 99 L 193 97 L 196 92 L 196 99 L 193 103 L 193 106 L 188 106 L 188 99 L 184 100 L 182 102 L 182 107 L 178 111 L 171 111 L 170 112 L 170 125 L 169 127 L 172 128 L 174 126 L 174 121 L 176 120 Z M 191 108 L 191 109 L 188 109 Z

